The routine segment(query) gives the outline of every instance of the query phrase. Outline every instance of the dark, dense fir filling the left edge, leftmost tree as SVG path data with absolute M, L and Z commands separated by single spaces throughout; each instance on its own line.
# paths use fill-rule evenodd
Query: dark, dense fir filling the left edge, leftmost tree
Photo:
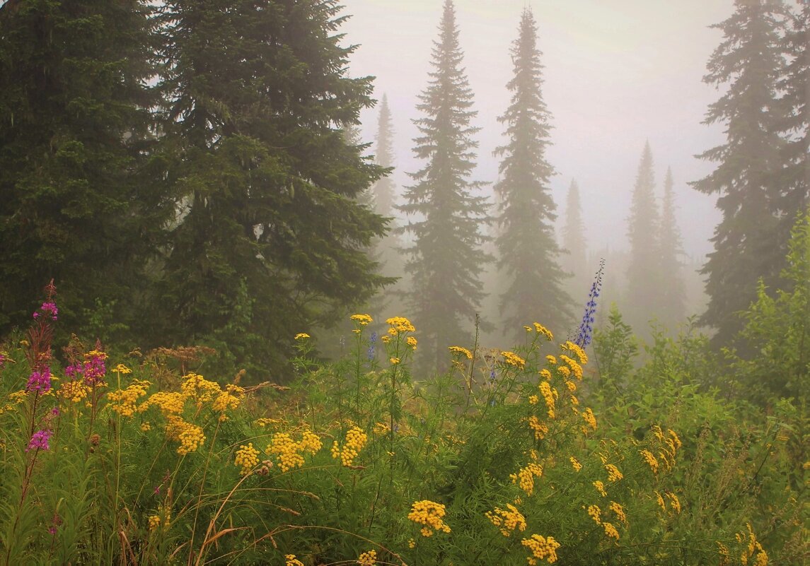
M 0 334 L 28 321 L 52 278 L 77 332 L 109 340 L 113 323 L 132 332 L 143 318 L 171 211 L 148 158 L 151 6 L 0 6 Z

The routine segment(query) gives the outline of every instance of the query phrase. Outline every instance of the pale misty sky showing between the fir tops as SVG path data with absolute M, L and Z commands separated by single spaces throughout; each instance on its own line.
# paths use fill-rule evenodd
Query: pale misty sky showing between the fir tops
M 394 181 L 424 163 L 411 152 L 416 96 L 428 83 L 442 0 L 344 0 L 346 43 L 359 44 L 352 76 L 374 75 L 375 97 L 386 93 L 396 129 Z M 694 158 L 724 141 L 723 127 L 702 125 L 718 99 L 702 82 L 706 61 L 722 40 L 710 29 L 731 15 L 731 0 L 456 0 L 459 41 L 475 93 L 481 131 L 475 180 L 497 180 L 492 150 L 503 143 L 497 116 L 509 104 L 509 48 L 523 6 L 531 6 L 543 52 L 543 95 L 552 113 L 553 146 L 547 154 L 557 175 L 552 191 L 565 212 L 572 178 L 582 193 L 590 251 L 625 247 L 630 192 L 646 140 L 655 160 L 657 190 L 672 167 L 684 248 L 691 256 L 711 251 L 719 220 L 715 196 L 687 183 L 714 166 Z M 364 139 L 373 141 L 377 108 L 364 112 Z M 400 189 L 401 190 L 401 189 Z M 488 190 L 491 191 L 491 188 Z

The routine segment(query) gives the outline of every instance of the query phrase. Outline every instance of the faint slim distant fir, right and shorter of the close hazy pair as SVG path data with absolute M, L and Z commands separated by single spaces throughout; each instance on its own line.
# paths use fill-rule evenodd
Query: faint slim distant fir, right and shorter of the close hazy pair
M 663 180 L 661 227 L 659 231 L 659 319 L 670 330 L 682 322 L 686 312 L 686 290 L 681 276 L 684 256 L 683 241 L 676 218 L 675 181 L 671 167 Z

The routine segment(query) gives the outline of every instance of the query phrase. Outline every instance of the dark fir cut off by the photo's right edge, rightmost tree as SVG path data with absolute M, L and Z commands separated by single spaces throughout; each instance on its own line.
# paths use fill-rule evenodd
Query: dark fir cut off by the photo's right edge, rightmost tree
M 810 206 L 810 2 L 801 6 L 791 14 L 785 33 L 789 62 L 779 82 L 785 116 L 781 130 L 787 138 L 782 157 L 786 190 L 780 239 L 790 238 L 795 215 Z

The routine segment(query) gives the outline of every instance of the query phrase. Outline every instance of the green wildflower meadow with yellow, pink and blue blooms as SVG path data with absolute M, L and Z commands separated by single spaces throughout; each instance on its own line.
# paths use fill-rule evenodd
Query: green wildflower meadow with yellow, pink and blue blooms
M 339 361 L 290 336 L 285 385 L 55 344 L 49 285 L 2 344 L 0 563 L 804 564 L 804 408 L 697 386 L 690 332 L 633 364 L 601 273 L 573 340 L 531 321 L 419 378 L 418 328 L 358 313 Z

